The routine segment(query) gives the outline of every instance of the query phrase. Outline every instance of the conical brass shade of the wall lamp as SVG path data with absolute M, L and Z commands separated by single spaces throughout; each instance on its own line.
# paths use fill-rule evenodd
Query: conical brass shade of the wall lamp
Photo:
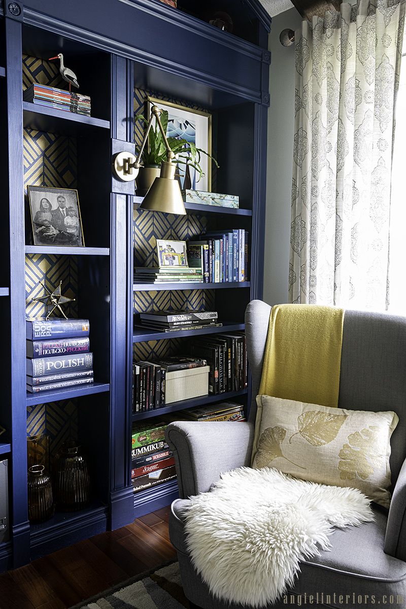
M 175 180 L 176 165 L 164 161 L 161 175 L 155 178 L 139 209 L 150 209 L 165 214 L 186 216 L 178 180 Z

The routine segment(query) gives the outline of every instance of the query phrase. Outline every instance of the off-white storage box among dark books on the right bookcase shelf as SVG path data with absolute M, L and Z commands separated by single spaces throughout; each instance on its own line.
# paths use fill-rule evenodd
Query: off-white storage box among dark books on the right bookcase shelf
M 190 400 L 209 393 L 210 366 L 173 370 L 166 373 L 165 404 Z

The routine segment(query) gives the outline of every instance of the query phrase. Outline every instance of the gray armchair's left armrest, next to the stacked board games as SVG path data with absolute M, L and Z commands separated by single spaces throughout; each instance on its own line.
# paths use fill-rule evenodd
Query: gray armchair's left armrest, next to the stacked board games
M 173 451 L 179 496 L 204 493 L 223 471 L 249 466 L 254 426 L 244 421 L 175 421 L 165 430 Z

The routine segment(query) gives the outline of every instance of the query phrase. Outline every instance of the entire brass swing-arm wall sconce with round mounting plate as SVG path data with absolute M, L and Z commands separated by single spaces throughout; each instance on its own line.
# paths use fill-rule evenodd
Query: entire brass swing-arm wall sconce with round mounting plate
M 167 161 L 164 161 L 161 164 L 161 174 L 159 175 L 159 178 L 155 178 L 153 181 L 151 188 L 145 195 L 139 208 L 160 211 L 161 213 L 166 214 L 177 214 L 177 216 L 185 216 L 186 210 L 184 209 L 180 185 L 178 180 L 175 180 L 177 166 L 175 163 L 172 163 L 174 154 L 169 147 L 166 134 L 164 133 L 159 119 L 159 114 L 161 114 L 161 110 L 159 110 L 158 106 L 153 106 L 151 108 L 151 116 L 145 130 L 138 157 L 135 157 L 131 152 L 118 152 L 114 155 L 112 164 L 113 174 L 118 180 L 126 182 L 135 180 L 139 172 L 142 150 L 144 150 L 145 144 L 147 143 L 148 133 L 152 126 L 153 118 L 155 117 L 166 146 Z

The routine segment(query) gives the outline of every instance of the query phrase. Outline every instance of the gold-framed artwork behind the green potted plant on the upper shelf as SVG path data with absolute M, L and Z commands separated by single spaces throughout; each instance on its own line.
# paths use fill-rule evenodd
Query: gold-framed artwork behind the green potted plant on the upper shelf
M 146 104 L 146 116 L 150 116 L 153 105 L 168 111 L 167 137 L 186 139 L 211 155 L 211 114 L 209 112 L 185 108 L 155 97 L 147 97 Z M 183 156 L 186 157 L 186 153 Z M 211 159 L 206 154 L 201 154 L 198 162 L 204 174 L 200 180 L 199 172 L 193 167 L 183 163 L 178 164 L 177 174 L 179 174 L 180 188 L 211 192 Z

